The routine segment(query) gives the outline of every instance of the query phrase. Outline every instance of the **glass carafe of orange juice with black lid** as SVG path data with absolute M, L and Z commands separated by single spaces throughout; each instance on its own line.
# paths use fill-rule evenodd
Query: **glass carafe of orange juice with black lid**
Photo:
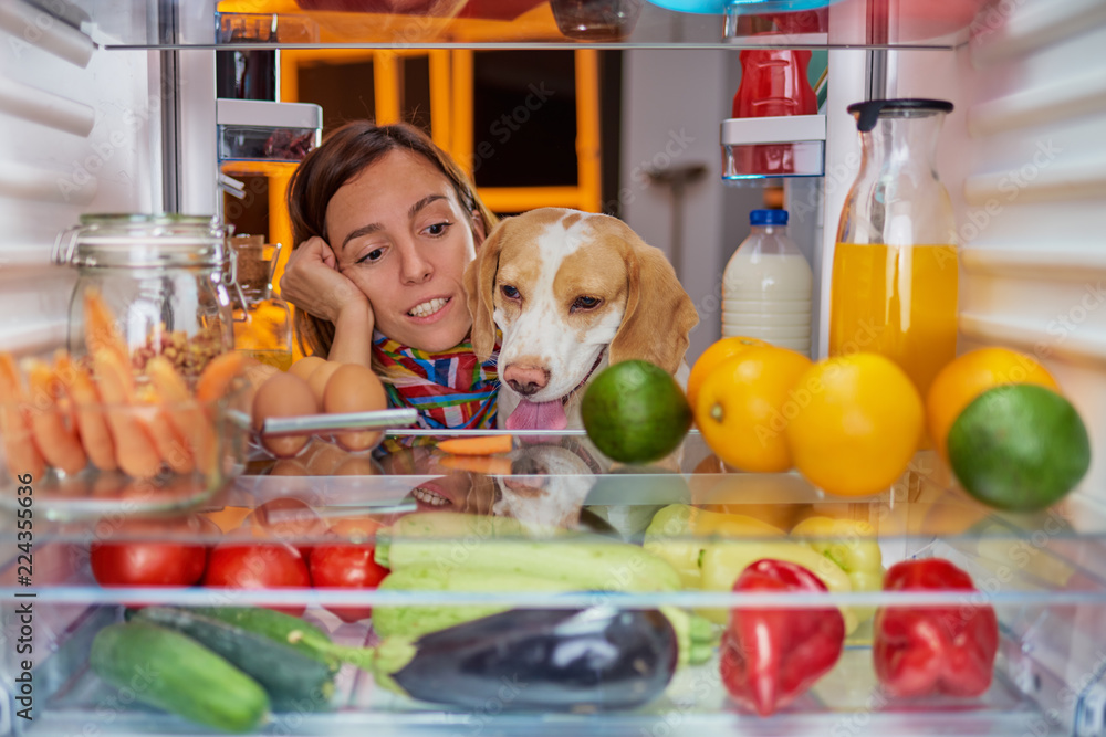
M 833 259 L 830 355 L 881 354 L 922 397 L 957 352 L 956 221 L 935 164 L 951 110 L 936 99 L 848 107 L 860 131 L 860 171 Z

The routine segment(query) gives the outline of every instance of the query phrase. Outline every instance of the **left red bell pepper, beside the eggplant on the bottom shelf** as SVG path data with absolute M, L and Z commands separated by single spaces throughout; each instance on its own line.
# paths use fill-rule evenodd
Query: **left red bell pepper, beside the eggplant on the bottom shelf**
M 734 591 L 827 591 L 793 562 L 762 559 L 733 583 Z M 740 608 L 722 635 L 722 683 L 739 704 L 769 716 L 806 692 L 841 657 L 845 619 L 824 609 Z

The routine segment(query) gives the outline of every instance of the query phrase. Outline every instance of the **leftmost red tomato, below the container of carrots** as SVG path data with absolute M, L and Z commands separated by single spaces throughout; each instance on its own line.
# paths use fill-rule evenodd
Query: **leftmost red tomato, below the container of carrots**
M 104 587 L 192 586 L 204 576 L 207 548 L 188 540 L 202 531 L 197 518 L 123 523 L 111 537 L 92 544 L 92 575 Z M 113 538 L 118 541 L 107 541 Z

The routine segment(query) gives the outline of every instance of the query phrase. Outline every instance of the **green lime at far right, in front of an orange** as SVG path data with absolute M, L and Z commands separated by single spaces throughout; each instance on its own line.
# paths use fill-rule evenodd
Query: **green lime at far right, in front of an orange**
M 1010 512 L 1043 509 L 1091 465 L 1087 429 L 1072 403 L 1031 383 L 995 387 L 963 409 L 948 439 L 964 491 Z

